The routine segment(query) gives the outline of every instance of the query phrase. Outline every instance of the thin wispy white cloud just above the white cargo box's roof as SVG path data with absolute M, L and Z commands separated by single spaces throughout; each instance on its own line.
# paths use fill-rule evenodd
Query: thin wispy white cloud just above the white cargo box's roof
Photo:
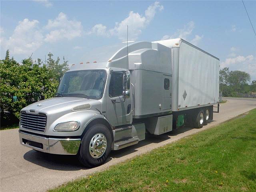
M 195 28 L 194 21 L 188 22 L 182 29 L 178 29 L 174 34 L 172 35 L 164 35 L 161 40 L 167 40 L 167 39 L 174 39 L 174 38 L 182 38 L 184 40 L 190 41 L 194 45 L 198 45 L 200 40 L 204 37 L 204 35 L 195 35 L 195 37 L 192 40 L 189 40 L 189 36 L 191 35 L 192 31 Z

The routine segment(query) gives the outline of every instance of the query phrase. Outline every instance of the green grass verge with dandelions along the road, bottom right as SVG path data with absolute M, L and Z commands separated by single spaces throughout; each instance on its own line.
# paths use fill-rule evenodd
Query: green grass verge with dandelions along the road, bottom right
M 256 109 L 50 192 L 256 191 Z

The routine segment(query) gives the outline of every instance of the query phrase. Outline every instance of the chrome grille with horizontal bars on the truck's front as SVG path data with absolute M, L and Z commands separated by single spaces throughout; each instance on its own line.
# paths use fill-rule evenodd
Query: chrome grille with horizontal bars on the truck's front
M 21 112 L 20 125 L 22 128 L 44 132 L 46 128 L 46 115 L 45 114 L 27 114 Z

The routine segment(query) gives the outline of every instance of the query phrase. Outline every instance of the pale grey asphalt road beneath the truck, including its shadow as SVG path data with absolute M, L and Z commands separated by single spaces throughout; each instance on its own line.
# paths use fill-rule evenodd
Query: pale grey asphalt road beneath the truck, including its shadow
M 86 169 L 75 156 L 43 154 L 21 146 L 18 129 L 0 131 L 0 191 L 46 191 L 64 182 L 86 176 L 134 156 L 164 146 L 180 138 L 206 130 L 230 118 L 256 108 L 255 99 L 228 99 L 220 104 L 220 113 L 201 129 L 180 128 L 160 136 L 147 136 L 146 140 L 119 151 L 112 151 L 106 164 Z

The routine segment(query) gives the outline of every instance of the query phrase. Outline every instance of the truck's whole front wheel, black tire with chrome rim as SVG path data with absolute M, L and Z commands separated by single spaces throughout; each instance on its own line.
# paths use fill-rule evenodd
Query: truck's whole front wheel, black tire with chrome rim
M 106 161 L 111 144 L 112 137 L 108 128 L 103 124 L 95 124 L 82 138 L 78 159 L 86 167 L 100 166 Z

